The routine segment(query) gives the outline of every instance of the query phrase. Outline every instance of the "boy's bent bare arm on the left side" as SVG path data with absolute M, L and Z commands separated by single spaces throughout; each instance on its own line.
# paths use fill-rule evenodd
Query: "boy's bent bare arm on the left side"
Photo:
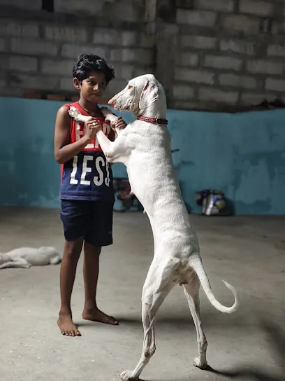
M 54 158 L 59 164 L 63 164 L 73 158 L 92 141 L 92 139 L 85 135 L 78 141 L 75 141 L 75 143 L 70 143 L 70 130 L 71 117 L 68 114 L 68 108 L 61 106 L 59 111 L 57 111 L 54 129 Z

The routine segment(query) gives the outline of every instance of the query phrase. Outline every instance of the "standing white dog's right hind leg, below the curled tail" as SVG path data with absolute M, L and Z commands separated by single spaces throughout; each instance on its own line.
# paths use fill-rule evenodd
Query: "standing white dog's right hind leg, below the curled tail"
M 200 317 L 200 298 L 199 298 L 200 281 L 197 275 L 193 275 L 189 284 L 184 285 L 184 293 L 187 297 L 187 302 L 193 317 L 193 321 L 197 331 L 198 342 L 198 357 L 194 359 L 193 364 L 197 368 L 207 368 L 207 340 L 202 328 L 202 321 Z

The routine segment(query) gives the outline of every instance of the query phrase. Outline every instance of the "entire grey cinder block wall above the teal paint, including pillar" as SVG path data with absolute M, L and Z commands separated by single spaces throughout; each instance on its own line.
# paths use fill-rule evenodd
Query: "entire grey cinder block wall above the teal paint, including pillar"
M 0 0 L 1 96 L 71 94 L 73 61 L 87 51 L 115 66 L 110 95 L 154 72 L 172 109 L 231 110 L 285 96 L 284 0 L 54 0 L 54 13 L 41 8 L 41 0 Z

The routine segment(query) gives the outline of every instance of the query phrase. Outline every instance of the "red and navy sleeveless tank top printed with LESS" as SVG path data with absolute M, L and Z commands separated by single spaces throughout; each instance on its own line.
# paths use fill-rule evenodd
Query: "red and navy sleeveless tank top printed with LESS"
M 82 115 L 89 116 L 78 102 L 66 104 L 75 107 Z M 110 123 L 105 118 L 96 118 L 102 125 L 104 134 L 108 137 L 111 131 Z M 85 124 L 75 122 L 71 118 L 70 142 L 78 141 L 85 134 Z M 89 200 L 114 202 L 112 169 L 105 155 L 94 139 L 85 148 L 61 165 L 61 200 Z

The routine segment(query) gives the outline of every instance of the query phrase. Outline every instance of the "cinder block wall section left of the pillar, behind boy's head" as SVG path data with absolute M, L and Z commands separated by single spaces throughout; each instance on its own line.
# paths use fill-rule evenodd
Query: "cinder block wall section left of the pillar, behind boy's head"
M 0 0 L 0 96 L 76 94 L 72 67 L 81 53 L 102 55 L 114 65 L 110 95 L 126 79 L 153 72 L 154 35 L 142 31 L 143 3 L 55 0 L 50 13 L 42 11 L 41 0 Z

